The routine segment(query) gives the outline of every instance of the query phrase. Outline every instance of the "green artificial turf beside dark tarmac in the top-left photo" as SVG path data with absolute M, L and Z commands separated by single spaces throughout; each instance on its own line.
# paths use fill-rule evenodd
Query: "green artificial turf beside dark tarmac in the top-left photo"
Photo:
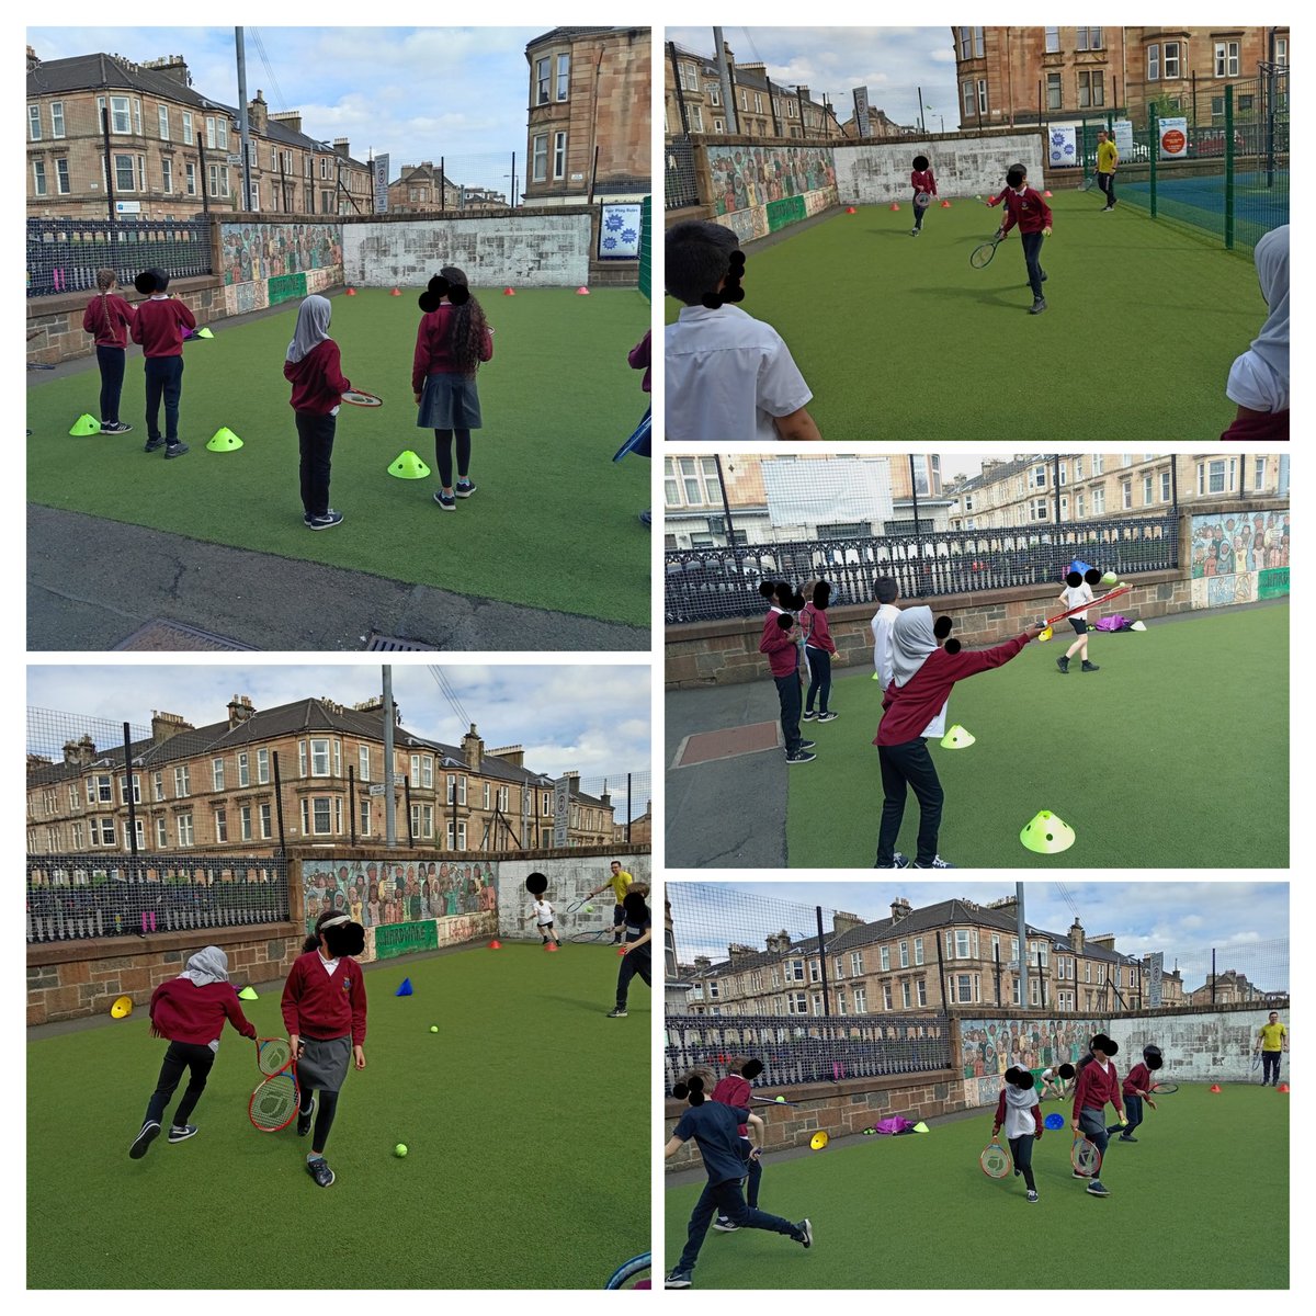
M 301 524 L 297 432 L 283 378 L 295 301 L 280 315 L 221 321 L 212 341 L 186 346 L 179 434 L 192 451 L 182 459 L 142 453 L 137 349 L 121 408 L 130 434 L 68 436 L 80 413 L 99 411 L 95 362 L 30 387 L 28 496 L 192 540 L 646 626 L 650 534 L 637 513 L 649 507 L 650 465 L 613 463 L 612 454 L 647 403 L 626 353 L 649 328 L 649 303 L 630 290 L 478 296 L 496 329 L 495 357 L 479 371 L 484 428 L 471 440 L 478 492 L 455 513 L 432 501 L 437 474 L 388 475 L 404 449 L 436 468 L 433 432 L 416 426 L 411 391 L 415 290 L 333 299 L 330 333 L 343 374 L 384 399 L 379 409 L 343 407 L 338 415 L 332 503 L 346 520 L 333 533 L 312 534 Z M 243 446 L 207 451 L 220 426 Z M 278 588 L 276 578 L 270 587 Z

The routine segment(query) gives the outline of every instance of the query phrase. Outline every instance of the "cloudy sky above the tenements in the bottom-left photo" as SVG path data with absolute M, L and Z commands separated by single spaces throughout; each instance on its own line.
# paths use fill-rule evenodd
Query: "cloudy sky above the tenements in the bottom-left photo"
M 579 771 L 607 775 L 624 788 L 625 774 L 650 767 L 647 666 L 463 666 L 443 665 L 458 703 L 488 749 L 525 746 L 525 766 L 550 776 Z M 428 666 L 392 665 L 393 701 L 403 725 L 445 745 L 461 742 L 466 725 L 450 707 Z M 32 666 L 29 708 L 150 726 L 151 712 L 182 715 L 193 726 L 228 717 L 234 695 L 255 708 L 312 696 L 349 705 L 380 694 L 382 669 L 340 665 L 233 666 Z M 39 746 L 59 753 L 59 744 Z M 97 742 L 100 737 L 97 736 Z M 118 737 L 121 740 L 121 734 Z M 30 740 L 30 734 L 29 734 Z M 29 745 L 29 749 L 38 746 Z M 638 811 L 646 801 L 638 800 Z

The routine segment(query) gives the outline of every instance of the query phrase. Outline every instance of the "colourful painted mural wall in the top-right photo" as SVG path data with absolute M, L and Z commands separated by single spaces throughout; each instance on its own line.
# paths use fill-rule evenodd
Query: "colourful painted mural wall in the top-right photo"
M 716 142 L 701 150 L 713 218 L 741 242 L 767 237 L 837 204 L 829 146 Z

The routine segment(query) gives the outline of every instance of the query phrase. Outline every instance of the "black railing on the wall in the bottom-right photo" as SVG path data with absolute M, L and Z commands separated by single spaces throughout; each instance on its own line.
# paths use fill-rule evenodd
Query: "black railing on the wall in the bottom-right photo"
M 937 1012 L 830 1017 L 667 1015 L 667 1091 L 694 1066 L 726 1071 L 732 1055 L 762 1061 L 758 1087 L 840 1083 L 950 1067 L 950 1025 Z

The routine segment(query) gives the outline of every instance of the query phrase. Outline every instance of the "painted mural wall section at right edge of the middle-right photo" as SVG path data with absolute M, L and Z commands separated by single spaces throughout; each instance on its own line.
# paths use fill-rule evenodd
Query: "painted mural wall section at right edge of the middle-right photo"
M 1192 607 L 1224 608 L 1288 594 L 1290 511 L 1192 519 Z

